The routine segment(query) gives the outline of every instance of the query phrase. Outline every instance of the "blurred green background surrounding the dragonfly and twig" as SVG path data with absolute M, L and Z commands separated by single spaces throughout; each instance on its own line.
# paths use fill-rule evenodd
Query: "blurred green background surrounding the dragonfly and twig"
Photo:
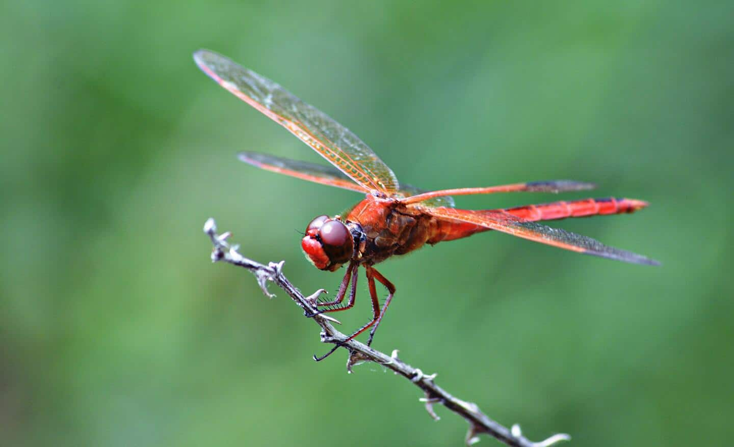
M 0 14 L 0 445 L 459 446 L 465 422 L 211 265 L 217 218 L 305 292 L 297 230 L 360 197 L 259 171 L 316 154 L 192 62 L 224 53 L 423 188 L 570 178 L 634 215 L 554 223 L 625 265 L 480 234 L 393 259 L 375 347 L 528 437 L 734 435 L 730 1 L 6 1 Z M 581 198 L 584 194 L 567 194 Z M 546 202 L 514 194 L 460 207 Z M 368 318 L 365 281 L 344 330 Z M 484 437 L 482 445 L 498 445 Z

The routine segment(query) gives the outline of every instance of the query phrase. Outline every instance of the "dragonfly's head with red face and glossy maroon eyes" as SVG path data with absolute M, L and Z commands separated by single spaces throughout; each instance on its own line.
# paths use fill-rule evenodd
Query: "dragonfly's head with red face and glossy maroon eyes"
M 319 215 L 306 227 L 301 247 L 308 260 L 319 270 L 334 272 L 352 258 L 354 239 L 338 218 Z

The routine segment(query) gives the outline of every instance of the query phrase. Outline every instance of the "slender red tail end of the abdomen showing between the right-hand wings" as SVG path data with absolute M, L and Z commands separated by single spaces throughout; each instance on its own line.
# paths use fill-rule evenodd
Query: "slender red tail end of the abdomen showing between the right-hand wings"
M 647 202 L 642 200 L 606 197 L 604 199 L 526 205 L 524 207 L 508 208 L 504 211 L 528 221 L 553 221 L 565 218 L 581 218 L 589 215 L 633 213 L 644 207 L 647 207 Z

